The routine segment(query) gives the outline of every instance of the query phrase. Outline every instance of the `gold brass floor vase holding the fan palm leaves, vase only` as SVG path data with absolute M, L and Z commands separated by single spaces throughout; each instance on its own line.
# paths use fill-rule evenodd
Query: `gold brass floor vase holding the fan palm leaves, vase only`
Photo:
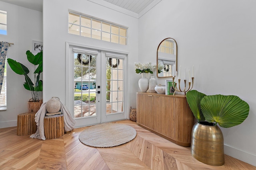
M 191 154 L 208 165 L 224 164 L 224 138 L 221 129 L 206 121 L 196 123 L 192 128 Z

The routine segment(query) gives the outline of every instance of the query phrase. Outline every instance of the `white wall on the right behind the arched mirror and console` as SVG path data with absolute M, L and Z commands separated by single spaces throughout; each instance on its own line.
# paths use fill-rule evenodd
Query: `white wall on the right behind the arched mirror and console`
M 178 67 L 191 70 L 194 65 L 195 90 L 236 95 L 249 104 L 248 118 L 222 132 L 225 154 L 254 166 L 255 6 L 253 0 L 162 0 L 139 19 L 140 62 L 156 63 L 158 44 L 172 37 L 178 44 Z M 157 83 L 165 80 L 157 78 Z

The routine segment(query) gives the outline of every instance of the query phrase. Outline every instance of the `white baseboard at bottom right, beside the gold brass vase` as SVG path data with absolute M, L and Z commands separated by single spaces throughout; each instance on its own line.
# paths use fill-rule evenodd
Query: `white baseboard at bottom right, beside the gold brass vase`
M 244 152 L 242 150 L 238 150 L 227 145 L 224 145 L 224 151 L 225 154 L 232 156 L 233 158 L 242 160 L 243 162 L 256 166 L 256 155 Z

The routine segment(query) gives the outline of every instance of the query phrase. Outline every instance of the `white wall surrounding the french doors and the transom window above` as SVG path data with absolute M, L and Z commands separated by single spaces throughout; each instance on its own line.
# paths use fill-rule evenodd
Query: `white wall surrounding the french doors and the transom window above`
M 119 45 L 68 33 L 68 10 L 73 10 L 95 18 L 128 27 L 128 45 Z M 81 45 L 103 47 L 128 52 L 128 92 L 137 92 L 138 76 L 130 78 L 135 72 L 134 62 L 138 61 L 138 19 L 110 10 L 87 0 L 44 0 L 44 89 L 43 100 L 52 96 L 66 102 L 66 41 Z M 58 88 L 55 88 L 57 87 Z M 129 96 L 131 96 L 129 98 Z M 128 93 L 128 108 L 136 107 L 136 96 Z M 73 109 L 73 108 L 69 108 Z

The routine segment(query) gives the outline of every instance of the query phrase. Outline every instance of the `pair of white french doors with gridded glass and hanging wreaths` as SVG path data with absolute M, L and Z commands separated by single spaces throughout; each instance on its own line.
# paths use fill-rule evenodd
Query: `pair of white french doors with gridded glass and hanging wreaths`
M 126 55 L 68 49 L 66 103 L 75 127 L 126 119 Z

